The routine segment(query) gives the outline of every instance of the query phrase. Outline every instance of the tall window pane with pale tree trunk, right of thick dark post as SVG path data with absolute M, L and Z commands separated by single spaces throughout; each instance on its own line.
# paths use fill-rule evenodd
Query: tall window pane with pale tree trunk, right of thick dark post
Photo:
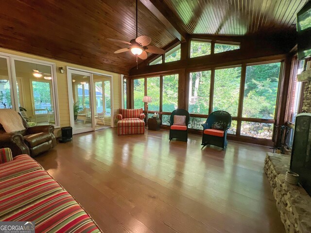
M 210 70 L 190 73 L 189 113 L 208 114 Z

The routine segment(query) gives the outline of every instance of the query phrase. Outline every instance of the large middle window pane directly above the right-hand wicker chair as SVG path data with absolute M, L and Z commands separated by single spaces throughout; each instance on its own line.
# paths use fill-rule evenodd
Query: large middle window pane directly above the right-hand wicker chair
M 238 115 L 241 67 L 216 69 L 213 111 L 223 110 Z

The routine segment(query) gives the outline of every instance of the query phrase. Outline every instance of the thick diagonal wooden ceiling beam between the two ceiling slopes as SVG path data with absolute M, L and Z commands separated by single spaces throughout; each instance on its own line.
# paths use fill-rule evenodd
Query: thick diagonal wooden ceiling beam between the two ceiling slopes
M 178 19 L 174 13 L 160 0 L 140 0 L 166 27 L 167 31 L 178 40 L 185 41 L 186 33 L 176 23 Z

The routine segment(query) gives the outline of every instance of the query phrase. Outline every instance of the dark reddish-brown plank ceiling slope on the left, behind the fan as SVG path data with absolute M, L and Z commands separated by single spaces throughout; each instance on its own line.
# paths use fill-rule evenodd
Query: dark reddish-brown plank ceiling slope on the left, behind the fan
M 0 47 L 127 74 L 130 52 L 114 54 L 135 38 L 135 0 L 1 1 Z M 138 1 L 138 36 L 163 48 L 175 37 Z M 140 60 L 141 61 L 141 60 Z

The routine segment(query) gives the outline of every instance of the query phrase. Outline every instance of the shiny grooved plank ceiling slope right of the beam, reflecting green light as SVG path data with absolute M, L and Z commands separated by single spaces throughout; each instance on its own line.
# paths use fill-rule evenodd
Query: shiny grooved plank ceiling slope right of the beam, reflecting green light
M 245 35 L 295 30 L 308 0 L 163 0 L 188 34 Z

